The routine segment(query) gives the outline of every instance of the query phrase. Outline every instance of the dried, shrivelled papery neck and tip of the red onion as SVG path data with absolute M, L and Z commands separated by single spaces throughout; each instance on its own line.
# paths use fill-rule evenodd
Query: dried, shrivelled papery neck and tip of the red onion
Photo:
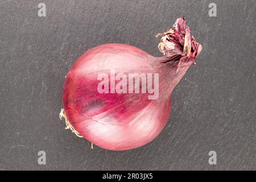
M 168 90 L 171 93 L 190 65 L 196 64 L 195 59 L 202 46 L 190 34 L 184 16 L 178 18 L 174 26 L 166 32 L 156 35 L 158 36 L 161 37 L 158 48 L 164 56 L 156 58 L 152 64 L 163 80 L 162 84 L 159 84 L 159 90 Z

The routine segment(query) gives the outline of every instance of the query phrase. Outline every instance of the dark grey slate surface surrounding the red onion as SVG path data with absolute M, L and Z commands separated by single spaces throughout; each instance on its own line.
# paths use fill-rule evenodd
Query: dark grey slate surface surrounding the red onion
M 64 130 L 64 76 L 79 55 L 124 43 L 160 56 L 154 35 L 183 15 L 203 52 L 175 88 L 159 137 L 130 151 L 92 150 Z M 255 1 L 1 1 L 0 169 L 256 169 L 254 19 Z

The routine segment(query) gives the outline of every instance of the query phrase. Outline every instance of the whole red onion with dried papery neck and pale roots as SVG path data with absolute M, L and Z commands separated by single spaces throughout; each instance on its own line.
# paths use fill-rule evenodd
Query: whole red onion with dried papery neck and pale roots
M 157 36 L 163 57 L 103 44 L 76 60 L 65 78 L 60 115 L 69 129 L 108 150 L 140 147 L 158 136 L 170 115 L 172 90 L 202 47 L 185 18 Z

